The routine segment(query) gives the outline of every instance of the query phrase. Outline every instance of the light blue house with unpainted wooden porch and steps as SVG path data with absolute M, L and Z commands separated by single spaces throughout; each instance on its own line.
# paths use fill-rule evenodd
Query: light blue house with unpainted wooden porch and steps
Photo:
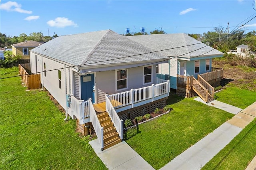
M 186 34 L 128 38 L 170 57 L 168 63 L 157 65 L 157 73 L 158 77 L 170 80 L 170 88 L 175 89 L 178 95 L 199 95 L 205 102 L 213 100 L 214 88 L 210 84 L 223 78 L 223 69 L 212 68 L 212 58 L 222 57 L 222 52 Z

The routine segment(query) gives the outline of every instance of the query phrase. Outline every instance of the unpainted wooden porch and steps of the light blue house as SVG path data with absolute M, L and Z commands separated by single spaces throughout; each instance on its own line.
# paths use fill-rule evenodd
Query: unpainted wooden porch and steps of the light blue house
M 223 79 L 223 68 L 212 67 L 211 72 L 198 74 L 198 79 L 194 76 L 183 76 L 177 74 L 177 95 L 190 98 L 201 97 L 206 103 L 214 98 L 214 86 Z

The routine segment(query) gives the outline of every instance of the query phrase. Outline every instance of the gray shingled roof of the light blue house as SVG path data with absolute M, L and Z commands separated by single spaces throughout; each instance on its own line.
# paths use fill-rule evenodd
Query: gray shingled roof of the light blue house
M 217 49 L 214 49 L 208 45 L 206 46 L 206 44 L 201 43 L 198 40 L 183 33 L 128 36 L 128 38 L 135 42 L 141 43 L 155 51 L 163 50 L 159 52 L 163 55 L 170 57 L 192 58 L 197 56 L 223 55 L 223 53 L 218 51 Z

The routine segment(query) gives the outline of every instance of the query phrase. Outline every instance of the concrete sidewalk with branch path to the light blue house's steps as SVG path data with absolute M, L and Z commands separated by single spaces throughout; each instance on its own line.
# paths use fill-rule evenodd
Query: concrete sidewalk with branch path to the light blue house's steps
M 198 100 L 197 98 L 195 100 Z M 200 101 L 200 100 L 199 100 Z M 214 105 L 211 105 L 214 103 Z M 217 107 L 236 114 L 212 133 L 178 155 L 166 164 L 162 170 L 198 170 L 224 148 L 240 131 L 256 117 L 256 102 L 241 111 L 237 107 L 219 101 L 212 101 L 207 105 Z M 239 112 L 240 110 L 241 112 Z M 238 113 L 236 113 L 238 112 Z

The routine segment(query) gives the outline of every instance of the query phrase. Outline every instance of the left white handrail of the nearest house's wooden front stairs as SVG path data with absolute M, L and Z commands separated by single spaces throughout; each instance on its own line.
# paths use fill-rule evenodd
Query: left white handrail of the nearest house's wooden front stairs
M 92 99 L 89 100 L 89 112 L 90 112 L 90 121 L 92 122 L 92 126 L 95 130 L 96 136 L 98 137 L 98 140 L 100 142 L 101 150 L 104 148 L 104 141 L 103 141 L 103 130 L 104 128 L 101 127 L 100 121 L 97 117 L 97 114 L 94 110 L 94 107 L 92 105 Z

